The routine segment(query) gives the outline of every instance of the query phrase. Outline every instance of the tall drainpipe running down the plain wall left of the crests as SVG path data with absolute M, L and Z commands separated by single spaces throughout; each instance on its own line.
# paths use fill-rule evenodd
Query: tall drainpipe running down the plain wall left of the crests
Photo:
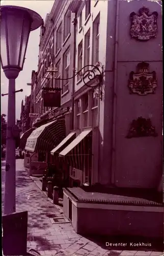
M 112 166 L 111 183 L 114 183 L 115 144 L 116 144 L 116 103 L 117 103 L 117 58 L 118 58 L 118 28 L 119 28 L 119 0 L 116 0 L 116 31 L 115 31 L 115 58 L 114 58 L 114 91 L 113 91 L 113 129 L 112 129 Z

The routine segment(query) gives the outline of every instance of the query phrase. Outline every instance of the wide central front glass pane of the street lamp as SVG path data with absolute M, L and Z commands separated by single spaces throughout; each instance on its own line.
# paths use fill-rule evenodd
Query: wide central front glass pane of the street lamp
M 14 10 L 7 12 L 8 42 L 9 42 L 9 65 L 18 66 L 21 35 L 23 28 L 23 13 Z

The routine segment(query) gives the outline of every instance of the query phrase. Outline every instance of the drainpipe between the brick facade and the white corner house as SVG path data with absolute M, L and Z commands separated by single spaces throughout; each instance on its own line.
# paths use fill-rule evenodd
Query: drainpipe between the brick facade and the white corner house
M 76 65 L 76 24 L 77 24 L 77 14 L 75 12 L 75 17 L 73 19 L 73 75 L 75 75 L 75 65 Z M 74 92 L 75 92 L 75 76 L 72 78 L 72 114 L 71 114 L 71 130 L 74 129 Z

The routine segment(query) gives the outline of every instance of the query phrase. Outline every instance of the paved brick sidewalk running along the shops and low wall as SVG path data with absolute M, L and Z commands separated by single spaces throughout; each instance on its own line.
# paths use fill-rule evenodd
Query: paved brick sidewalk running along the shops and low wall
M 28 176 L 23 161 L 16 160 L 16 211 L 28 210 L 28 250 L 41 255 L 75 256 L 160 256 L 162 252 L 108 250 L 104 243 L 96 243 L 73 230 L 70 223 L 52 224 L 48 215 L 63 217 L 62 208 L 54 206 Z M 4 193 L 4 189 L 2 194 Z

